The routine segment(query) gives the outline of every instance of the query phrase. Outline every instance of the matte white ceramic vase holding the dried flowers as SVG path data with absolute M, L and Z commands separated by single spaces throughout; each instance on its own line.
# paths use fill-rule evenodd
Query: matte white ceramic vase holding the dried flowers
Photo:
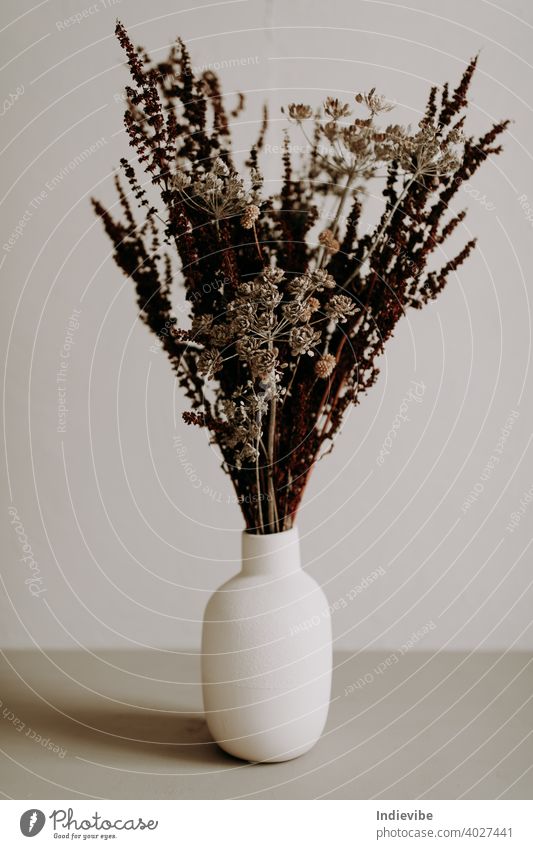
M 328 602 L 301 568 L 298 531 L 243 533 L 242 570 L 214 593 L 204 617 L 212 736 L 247 761 L 303 755 L 326 722 L 331 666 Z

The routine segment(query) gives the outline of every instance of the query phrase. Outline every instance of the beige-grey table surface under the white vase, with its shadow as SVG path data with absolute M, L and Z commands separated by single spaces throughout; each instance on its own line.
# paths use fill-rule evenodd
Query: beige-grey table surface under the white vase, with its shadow
M 388 657 L 335 655 L 318 745 L 285 764 L 251 765 L 210 740 L 196 654 L 4 652 L 0 791 L 14 799 L 532 798 L 533 656 L 411 652 L 379 674 Z M 358 679 L 362 686 L 350 686 Z

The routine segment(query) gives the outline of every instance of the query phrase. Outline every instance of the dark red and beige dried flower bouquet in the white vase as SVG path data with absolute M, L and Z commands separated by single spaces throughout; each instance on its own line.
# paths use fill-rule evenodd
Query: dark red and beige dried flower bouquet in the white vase
M 375 90 L 356 94 L 353 107 L 333 97 L 318 111 L 291 104 L 287 119 L 307 152 L 295 168 L 285 134 L 281 189 L 267 195 L 259 167 L 266 109 L 243 176 L 230 123 L 244 97 L 228 112 L 216 75 L 195 76 L 179 39 L 153 63 L 120 23 L 116 35 L 133 80 L 126 130 L 148 186 L 122 159 L 123 220 L 96 200 L 95 210 L 189 399 L 185 422 L 205 427 L 220 448 L 247 529 L 287 530 L 345 411 L 375 382 L 397 321 L 435 298 L 474 248 L 468 241 L 441 268 L 428 266 L 465 217 L 450 201 L 500 152 L 508 122 L 479 139 L 464 134 L 477 58 L 453 92 L 431 89 L 415 129 L 384 123 L 392 105 Z M 360 234 L 366 188 L 378 177 L 380 216 Z M 188 328 L 173 311 L 176 260 Z

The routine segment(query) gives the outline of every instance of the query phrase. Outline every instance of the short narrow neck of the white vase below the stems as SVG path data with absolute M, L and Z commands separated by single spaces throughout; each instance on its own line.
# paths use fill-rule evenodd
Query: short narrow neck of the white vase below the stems
M 301 569 L 298 530 L 242 535 L 243 575 L 288 575 Z

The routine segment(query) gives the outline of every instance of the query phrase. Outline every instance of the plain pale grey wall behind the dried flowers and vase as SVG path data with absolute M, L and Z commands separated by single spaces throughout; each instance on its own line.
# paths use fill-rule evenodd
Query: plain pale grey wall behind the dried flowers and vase
M 299 525 L 336 608 L 336 647 L 533 648 L 533 15 L 518 0 L 3 2 L 0 644 L 198 648 L 208 595 L 238 568 L 229 481 L 204 435 L 182 424 L 169 366 L 89 206 L 91 194 L 114 202 L 111 175 L 129 155 L 117 15 L 154 56 L 181 34 L 195 65 L 223 66 L 226 91 L 248 97 L 235 128 L 243 148 L 267 97 L 279 117 L 272 145 L 279 105 L 328 93 L 376 86 L 398 120 L 416 122 L 429 86 L 456 81 L 481 50 L 469 127 L 514 124 L 504 155 L 454 201 L 469 207 L 461 237 L 477 234 L 479 249 L 399 327 L 379 384 L 316 470 Z M 272 179 L 276 163 L 268 157 Z M 420 402 L 408 401 L 379 466 L 412 381 Z

